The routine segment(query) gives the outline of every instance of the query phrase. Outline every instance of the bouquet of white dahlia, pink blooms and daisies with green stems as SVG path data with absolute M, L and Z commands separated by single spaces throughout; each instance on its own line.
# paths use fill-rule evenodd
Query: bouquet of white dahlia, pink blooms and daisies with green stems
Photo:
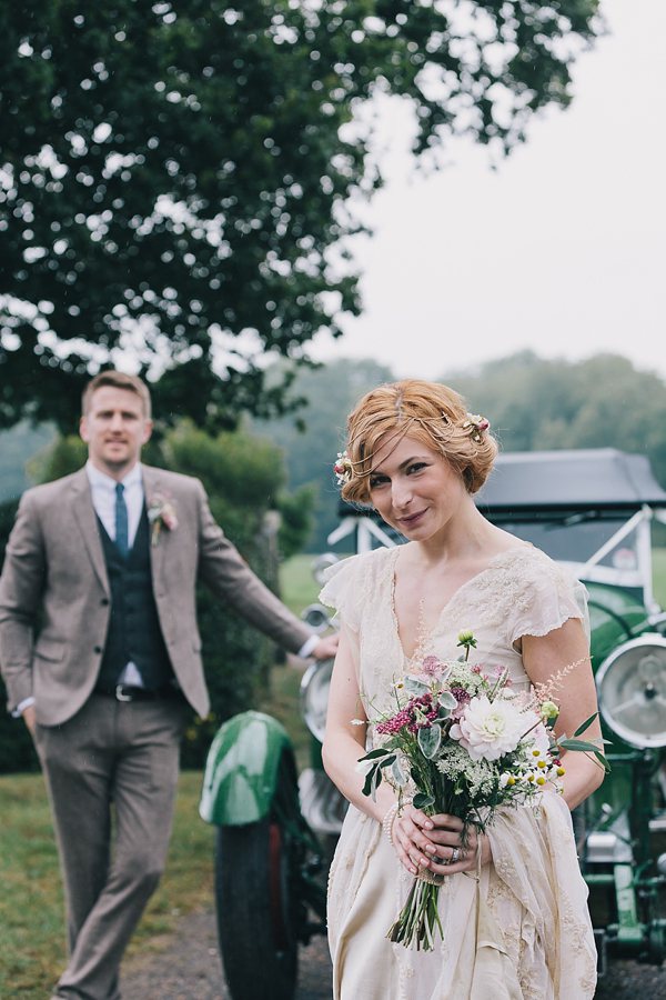
M 395 708 L 372 720 L 382 746 L 361 758 L 363 792 L 374 798 L 386 778 L 398 792 L 398 808 L 410 789 L 416 809 L 428 816 L 448 813 L 463 820 L 463 848 L 471 827 L 482 833 L 498 806 L 538 810 L 546 784 L 562 792 L 562 750 L 594 753 L 607 768 L 596 740 L 577 739 L 596 718 L 587 719 L 574 738 L 555 739 L 557 704 L 537 688 L 511 690 L 505 668 L 485 672 L 468 662 L 476 646 L 471 631 L 458 634 L 465 656 L 453 662 L 423 656 L 414 672 L 394 684 Z M 575 664 L 574 664 L 575 666 Z M 407 901 L 387 937 L 408 947 L 433 949 L 442 924 L 437 896 L 442 877 L 426 869 L 416 876 Z

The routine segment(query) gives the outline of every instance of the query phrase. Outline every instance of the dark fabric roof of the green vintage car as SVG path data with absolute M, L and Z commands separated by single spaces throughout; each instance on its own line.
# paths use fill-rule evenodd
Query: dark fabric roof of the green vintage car
M 482 511 L 666 507 L 666 492 L 644 454 L 616 448 L 514 451 L 497 457 L 481 491 Z

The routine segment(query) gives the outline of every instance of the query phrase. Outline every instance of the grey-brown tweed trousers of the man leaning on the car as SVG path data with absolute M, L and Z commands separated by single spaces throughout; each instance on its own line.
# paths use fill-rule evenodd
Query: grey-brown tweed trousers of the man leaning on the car
M 93 694 L 37 728 L 67 903 L 58 997 L 120 998 L 120 961 L 167 859 L 184 722 L 180 702 Z

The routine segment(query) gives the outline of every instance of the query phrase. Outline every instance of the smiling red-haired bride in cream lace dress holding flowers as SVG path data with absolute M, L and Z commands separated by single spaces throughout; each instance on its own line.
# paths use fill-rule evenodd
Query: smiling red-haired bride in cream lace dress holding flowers
M 372 502 L 407 542 L 337 563 L 321 594 L 341 621 L 324 767 L 351 803 L 329 887 L 335 1000 L 594 996 L 569 810 L 601 783 L 598 764 L 564 753 L 563 796 L 548 791 L 538 816 L 500 808 L 465 846 L 457 817 L 398 811 L 387 782 L 367 798 L 356 770 L 373 742 L 370 706 L 372 714 L 389 708 L 394 677 L 424 649 L 456 659 L 462 628 L 473 631 L 484 670 L 508 668 L 512 690 L 557 679 L 556 734 L 573 734 L 596 711 L 583 586 L 474 503 L 496 451 L 487 421 L 440 384 L 383 386 L 349 418 L 349 456 L 336 467 L 343 497 Z M 599 736 L 596 721 L 586 739 Z M 446 877 L 443 936 L 427 952 L 386 938 L 423 871 Z

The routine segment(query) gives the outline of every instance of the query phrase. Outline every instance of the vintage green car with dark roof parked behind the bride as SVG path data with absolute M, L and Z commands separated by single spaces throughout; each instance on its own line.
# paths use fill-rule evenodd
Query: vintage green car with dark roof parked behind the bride
M 650 536 L 655 520 L 666 524 L 666 492 L 643 456 L 515 452 L 498 458 L 476 502 L 493 523 L 533 542 L 586 584 L 612 772 L 577 810 L 574 826 L 599 971 L 608 952 L 660 964 L 666 614 L 653 596 Z M 331 546 L 360 552 L 401 543 L 367 509 L 343 504 L 341 516 Z M 336 559 L 315 560 L 315 576 Z M 319 630 L 331 624 L 319 604 L 303 617 Z M 259 712 L 225 723 L 209 754 L 201 814 L 218 828 L 218 927 L 233 1000 L 290 1000 L 299 943 L 325 930 L 326 868 L 345 809 L 321 766 L 332 666 L 315 663 L 303 678 L 302 713 L 313 739 L 311 767 L 299 777 L 287 733 Z

